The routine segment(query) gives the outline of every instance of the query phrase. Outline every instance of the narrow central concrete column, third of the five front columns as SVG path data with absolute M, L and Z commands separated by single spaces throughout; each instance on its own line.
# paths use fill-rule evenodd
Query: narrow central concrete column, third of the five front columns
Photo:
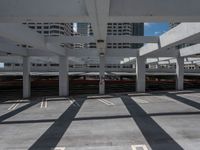
M 105 56 L 99 57 L 99 94 L 105 94 Z

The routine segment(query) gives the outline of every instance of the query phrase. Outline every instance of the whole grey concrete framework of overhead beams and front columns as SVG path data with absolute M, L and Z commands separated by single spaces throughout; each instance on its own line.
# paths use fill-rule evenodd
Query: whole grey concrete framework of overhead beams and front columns
M 38 7 L 37 1 L 3 0 L 1 62 L 23 64 L 24 97 L 30 96 L 30 64 L 38 62 L 59 66 L 60 96 L 68 95 L 69 66 L 78 64 L 98 66 L 101 94 L 105 93 L 105 68 L 110 64 L 132 64 L 137 76 L 136 90 L 144 92 L 145 68 L 149 62 L 157 66 L 175 64 L 177 89 L 182 90 L 184 63 L 199 64 L 188 58 L 199 54 L 200 17 L 197 0 L 190 7 L 186 0 L 181 1 L 182 7 L 177 10 L 179 2 L 163 5 L 161 1 L 148 0 L 61 0 L 59 3 L 50 0 L 46 5 L 43 0 Z M 180 24 L 159 37 L 143 36 L 144 22 L 161 21 Z M 74 24 L 79 33 L 74 33 Z M 189 45 L 181 47 L 182 44 Z M 160 61 L 163 57 L 169 59 Z M 160 67 L 154 68 L 159 72 Z

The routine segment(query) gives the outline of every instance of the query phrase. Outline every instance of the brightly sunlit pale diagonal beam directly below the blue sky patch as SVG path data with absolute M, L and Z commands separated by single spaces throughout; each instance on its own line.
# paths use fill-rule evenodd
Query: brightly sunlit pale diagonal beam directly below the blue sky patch
M 182 23 L 160 36 L 159 44 L 147 44 L 140 49 L 140 56 L 155 51 L 171 50 L 183 43 L 200 42 L 200 23 Z M 170 51 L 168 51 L 170 53 Z

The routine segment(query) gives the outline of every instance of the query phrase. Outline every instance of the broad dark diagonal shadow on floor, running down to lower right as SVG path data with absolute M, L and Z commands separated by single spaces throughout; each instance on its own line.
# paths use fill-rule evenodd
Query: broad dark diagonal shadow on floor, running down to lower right
M 152 150 L 183 150 L 135 101 L 128 96 L 121 99 Z

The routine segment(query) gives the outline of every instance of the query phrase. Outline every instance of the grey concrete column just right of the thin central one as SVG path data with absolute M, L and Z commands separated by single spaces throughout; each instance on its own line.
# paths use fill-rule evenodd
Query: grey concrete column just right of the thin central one
M 136 92 L 145 92 L 146 89 L 145 61 L 144 57 L 136 58 Z

